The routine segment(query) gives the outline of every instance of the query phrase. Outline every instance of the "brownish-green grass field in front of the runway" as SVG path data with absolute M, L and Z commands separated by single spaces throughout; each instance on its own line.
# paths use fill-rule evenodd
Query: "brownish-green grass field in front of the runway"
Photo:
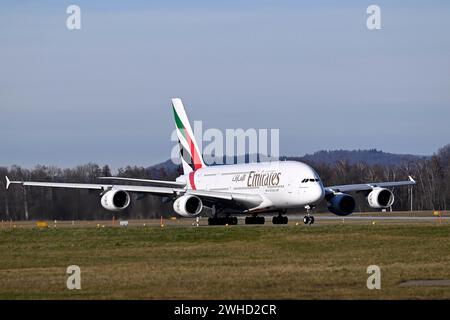
M 81 290 L 66 268 L 81 268 Z M 368 290 L 369 265 L 381 290 Z M 0 230 L 1 299 L 449 299 L 450 225 Z

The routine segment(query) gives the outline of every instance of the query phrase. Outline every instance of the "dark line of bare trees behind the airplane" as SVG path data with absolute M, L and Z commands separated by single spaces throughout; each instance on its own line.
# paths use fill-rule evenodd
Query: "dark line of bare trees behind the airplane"
M 295 160 L 295 158 L 292 158 Z M 308 161 L 306 161 L 308 162 Z M 349 163 L 342 160 L 332 164 L 309 164 L 319 173 L 325 186 L 367 183 L 377 181 L 397 181 L 411 175 L 417 182 L 412 188 L 394 189 L 394 211 L 413 210 L 447 210 L 450 204 L 450 144 L 439 149 L 432 157 L 400 164 L 367 164 L 366 162 Z M 168 170 L 164 167 L 127 166 L 117 171 L 117 176 L 143 179 L 174 180 L 181 174 L 181 168 Z M 48 182 L 99 183 L 98 178 L 111 176 L 109 166 L 95 163 L 80 165 L 75 168 L 61 169 L 55 166 L 38 165 L 25 169 L 13 165 L 0 167 L 0 177 L 8 176 L 11 180 L 31 180 Z M 130 206 L 120 213 L 122 217 L 159 218 L 174 214 L 172 203 L 166 198 L 131 194 Z M 356 194 L 357 211 L 374 211 L 370 209 L 364 194 Z M 318 212 L 326 211 L 324 203 Z M 208 212 L 205 212 L 208 214 Z M 0 184 L 0 219 L 111 219 L 112 213 L 100 205 L 98 190 L 76 190 L 59 188 L 33 188 L 12 185 L 6 190 L 5 183 Z M 116 213 L 118 216 L 118 214 Z

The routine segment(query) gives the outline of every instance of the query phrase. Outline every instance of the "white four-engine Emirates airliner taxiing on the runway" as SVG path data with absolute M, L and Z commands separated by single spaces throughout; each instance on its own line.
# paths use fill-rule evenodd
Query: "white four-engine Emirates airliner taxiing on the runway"
M 392 206 L 396 186 L 413 185 L 407 181 L 351 184 L 324 187 L 319 175 L 308 165 L 296 161 L 275 161 L 236 165 L 206 166 L 189 124 L 183 103 L 172 99 L 173 114 L 180 146 L 183 175 L 176 181 L 102 177 L 114 181 L 134 181 L 143 185 L 83 184 L 10 181 L 11 184 L 32 187 L 74 188 L 99 190 L 101 204 L 111 211 L 123 210 L 130 204 L 130 193 L 152 194 L 173 200 L 175 212 L 183 217 L 196 217 L 203 207 L 211 208 L 210 225 L 237 224 L 233 214 L 245 214 L 246 224 L 263 224 L 262 213 L 275 213 L 274 224 L 287 224 L 283 216 L 288 209 L 305 208 L 305 224 L 314 223 L 311 209 L 326 200 L 328 209 L 340 216 L 355 209 L 354 198 L 347 192 L 364 192 L 372 208 Z

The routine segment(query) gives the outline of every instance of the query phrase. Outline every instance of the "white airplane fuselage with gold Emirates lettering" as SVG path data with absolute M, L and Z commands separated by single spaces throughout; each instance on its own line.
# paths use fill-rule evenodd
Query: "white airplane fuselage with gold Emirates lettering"
M 185 179 L 188 188 L 195 190 L 257 194 L 265 206 L 276 209 L 315 205 L 325 195 L 314 169 L 296 161 L 210 166 Z

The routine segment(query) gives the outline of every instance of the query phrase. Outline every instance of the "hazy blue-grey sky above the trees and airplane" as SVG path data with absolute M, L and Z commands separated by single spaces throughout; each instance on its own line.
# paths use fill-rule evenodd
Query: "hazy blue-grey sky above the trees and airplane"
M 444 1 L 2 1 L 0 165 L 164 161 L 172 97 L 204 129 L 279 128 L 286 155 L 431 154 L 450 143 L 449 32 Z

